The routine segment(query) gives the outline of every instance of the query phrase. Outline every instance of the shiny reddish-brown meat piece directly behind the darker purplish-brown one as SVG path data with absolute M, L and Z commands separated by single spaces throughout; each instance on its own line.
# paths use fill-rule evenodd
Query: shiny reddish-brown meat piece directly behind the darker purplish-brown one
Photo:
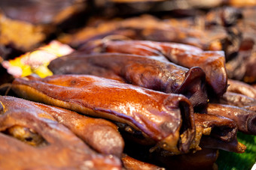
M 94 47 L 94 48 L 93 48 Z M 214 94 L 221 96 L 227 90 L 227 71 L 224 52 L 203 51 L 195 46 L 179 43 L 160 43 L 142 40 L 104 40 L 88 43 L 81 49 L 92 52 L 121 52 L 136 55 L 160 55 L 183 67 L 201 67 L 206 73 L 206 82 Z

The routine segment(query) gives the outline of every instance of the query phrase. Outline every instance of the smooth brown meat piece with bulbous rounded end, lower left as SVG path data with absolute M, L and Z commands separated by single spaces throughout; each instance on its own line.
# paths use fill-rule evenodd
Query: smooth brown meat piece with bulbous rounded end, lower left
M 15 97 L 0 97 L 5 111 L 11 109 L 28 109 L 32 112 L 46 112 L 60 124 L 72 130 L 75 135 L 84 140 L 90 147 L 102 154 L 114 154 L 120 157 L 124 142 L 118 133 L 117 126 L 99 118 L 88 118 L 66 109 L 47 106 Z

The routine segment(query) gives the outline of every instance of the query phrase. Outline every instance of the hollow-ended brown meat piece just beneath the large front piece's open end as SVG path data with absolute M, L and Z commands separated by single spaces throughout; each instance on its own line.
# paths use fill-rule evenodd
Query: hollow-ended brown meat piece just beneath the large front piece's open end
M 235 121 L 220 115 L 195 114 L 196 139 L 203 135 L 200 147 L 215 148 L 236 153 L 245 152 L 245 145 L 237 142 Z M 200 134 L 201 133 L 201 134 Z

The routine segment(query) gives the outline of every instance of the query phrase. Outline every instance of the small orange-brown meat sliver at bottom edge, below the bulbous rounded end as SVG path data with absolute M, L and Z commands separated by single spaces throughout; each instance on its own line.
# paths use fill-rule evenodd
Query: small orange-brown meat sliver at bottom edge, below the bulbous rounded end
M 159 166 L 154 166 L 150 163 L 144 163 L 142 161 L 136 160 L 132 157 L 129 157 L 126 154 L 122 156 L 123 167 L 127 170 L 164 170 Z

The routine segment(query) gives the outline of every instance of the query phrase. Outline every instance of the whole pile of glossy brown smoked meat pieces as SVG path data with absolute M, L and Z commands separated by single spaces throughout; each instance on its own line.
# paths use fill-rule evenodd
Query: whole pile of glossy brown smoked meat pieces
M 253 4 L 109 19 L 92 14 L 103 1 L 34 2 L 0 2 L 0 61 L 49 40 L 75 51 L 45 78 L 1 67 L 2 169 L 218 169 L 218 150 L 245 152 L 237 132 L 256 135 Z M 112 15 L 131 3 L 104 2 Z

